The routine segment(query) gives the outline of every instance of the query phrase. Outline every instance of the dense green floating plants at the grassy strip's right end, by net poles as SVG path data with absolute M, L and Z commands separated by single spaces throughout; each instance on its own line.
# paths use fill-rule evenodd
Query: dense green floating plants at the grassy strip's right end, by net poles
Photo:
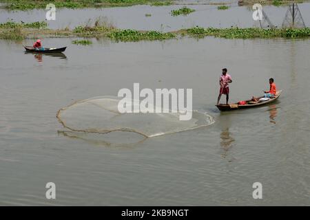
M 185 30 L 189 36 L 216 36 L 225 39 L 271 39 L 271 38 L 304 38 L 310 37 L 310 28 L 261 29 L 261 28 L 189 28 Z

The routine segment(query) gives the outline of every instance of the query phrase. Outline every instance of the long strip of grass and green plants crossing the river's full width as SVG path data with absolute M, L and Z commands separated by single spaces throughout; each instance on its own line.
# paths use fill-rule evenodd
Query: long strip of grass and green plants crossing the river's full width
M 0 39 L 25 39 L 43 37 L 96 37 L 112 41 L 163 41 L 182 36 L 203 38 L 214 36 L 225 39 L 273 39 L 273 38 L 310 38 L 310 28 L 188 28 L 175 32 L 121 30 L 109 24 L 96 23 L 94 26 L 78 26 L 73 30 L 49 30 L 45 21 L 34 23 L 14 23 L 8 21 L 0 24 Z

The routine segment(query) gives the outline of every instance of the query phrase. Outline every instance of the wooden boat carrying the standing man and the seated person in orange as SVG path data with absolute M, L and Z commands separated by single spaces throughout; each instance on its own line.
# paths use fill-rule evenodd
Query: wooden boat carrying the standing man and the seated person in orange
M 276 96 L 274 96 L 274 98 L 269 98 L 269 100 L 259 100 L 258 102 L 253 102 L 252 100 L 246 100 L 245 102 L 247 102 L 247 104 L 238 104 L 238 102 L 233 103 L 233 104 L 216 104 L 216 107 L 218 107 L 220 111 L 231 111 L 231 110 L 237 110 L 237 109 L 248 109 L 252 107 L 258 107 L 263 104 L 268 104 L 270 102 L 276 101 L 281 95 L 281 92 L 282 90 L 277 91 Z M 264 96 L 260 96 L 258 98 L 263 98 L 263 97 Z

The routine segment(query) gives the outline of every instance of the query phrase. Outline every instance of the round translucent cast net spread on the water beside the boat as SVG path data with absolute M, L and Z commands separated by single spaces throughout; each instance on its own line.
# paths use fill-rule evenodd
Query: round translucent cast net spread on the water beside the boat
M 180 113 L 120 113 L 121 98 L 101 96 L 74 102 L 60 109 L 59 122 L 71 131 L 87 133 L 111 133 L 128 131 L 145 137 L 154 137 L 208 126 L 214 122 L 206 113 L 192 112 L 192 119 L 179 120 Z M 132 102 L 132 105 L 139 102 Z

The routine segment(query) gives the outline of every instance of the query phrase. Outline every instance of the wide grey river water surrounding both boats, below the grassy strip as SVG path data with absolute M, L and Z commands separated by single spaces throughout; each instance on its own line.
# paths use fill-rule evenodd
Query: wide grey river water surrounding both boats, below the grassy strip
M 309 206 L 309 40 L 72 40 L 43 39 L 68 45 L 63 56 L 24 54 L 31 40 L 0 41 L 1 205 Z M 282 95 L 220 113 L 223 67 L 233 79 L 231 102 L 269 89 L 270 77 Z M 56 120 L 75 100 L 117 96 L 134 83 L 192 88 L 193 109 L 214 124 L 140 140 L 72 133 Z M 56 184 L 54 200 L 45 198 L 48 182 Z M 253 199 L 254 182 L 263 199 Z

